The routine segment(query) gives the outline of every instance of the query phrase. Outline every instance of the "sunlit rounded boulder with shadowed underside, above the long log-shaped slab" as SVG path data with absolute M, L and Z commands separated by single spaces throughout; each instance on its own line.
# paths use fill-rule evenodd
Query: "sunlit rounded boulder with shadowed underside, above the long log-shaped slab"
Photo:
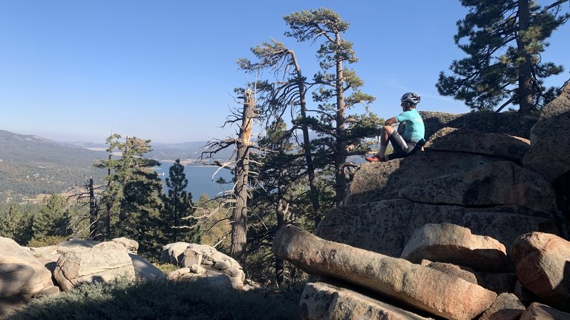
M 477 271 L 508 270 L 507 250 L 493 238 L 473 235 L 452 223 L 427 223 L 416 230 L 402 255 L 405 260 L 447 262 Z

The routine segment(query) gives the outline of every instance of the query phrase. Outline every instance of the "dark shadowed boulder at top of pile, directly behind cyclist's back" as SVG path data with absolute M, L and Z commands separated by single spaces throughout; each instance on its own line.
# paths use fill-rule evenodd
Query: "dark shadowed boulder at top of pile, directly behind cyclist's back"
M 532 126 L 539 117 L 534 114 L 514 112 L 470 112 L 452 114 L 445 112 L 418 111 L 425 125 L 425 138 L 428 139 L 442 128 L 472 129 L 478 132 L 509 134 L 529 139 Z

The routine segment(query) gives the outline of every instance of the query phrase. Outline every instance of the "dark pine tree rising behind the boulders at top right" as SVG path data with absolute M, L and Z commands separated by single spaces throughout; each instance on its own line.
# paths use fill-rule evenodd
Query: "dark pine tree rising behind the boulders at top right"
M 461 0 L 470 11 L 457 21 L 454 39 L 468 56 L 453 61 L 455 75 L 440 73 L 437 91 L 475 110 L 498 106 L 497 112 L 512 104 L 529 113 L 554 99 L 559 89 L 546 89 L 544 79 L 563 68 L 542 62 L 541 53 L 569 18 L 560 14 L 566 1 L 541 7 L 533 0 Z

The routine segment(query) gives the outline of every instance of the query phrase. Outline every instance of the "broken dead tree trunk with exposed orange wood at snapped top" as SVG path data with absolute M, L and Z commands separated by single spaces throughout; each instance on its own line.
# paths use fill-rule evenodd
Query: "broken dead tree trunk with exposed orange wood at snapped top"
M 255 100 L 252 90 L 247 90 L 244 97 L 242 127 L 239 129 L 239 139 L 236 159 L 236 182 L 234 196 L 236 206 L 232 214 L 232 246 L 230 255 L 241 265 L 245 262 L 247 245 L 247 176 L 249 174 L 249 139 L 252 134 Z

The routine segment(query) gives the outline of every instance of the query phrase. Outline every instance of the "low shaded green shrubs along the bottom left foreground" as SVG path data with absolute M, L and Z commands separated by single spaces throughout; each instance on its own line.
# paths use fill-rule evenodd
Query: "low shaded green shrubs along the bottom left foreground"
M 86 284 L 31 302 L 9 319 L 299 319 L 301 292 L 214 289 L 195 282 Z

